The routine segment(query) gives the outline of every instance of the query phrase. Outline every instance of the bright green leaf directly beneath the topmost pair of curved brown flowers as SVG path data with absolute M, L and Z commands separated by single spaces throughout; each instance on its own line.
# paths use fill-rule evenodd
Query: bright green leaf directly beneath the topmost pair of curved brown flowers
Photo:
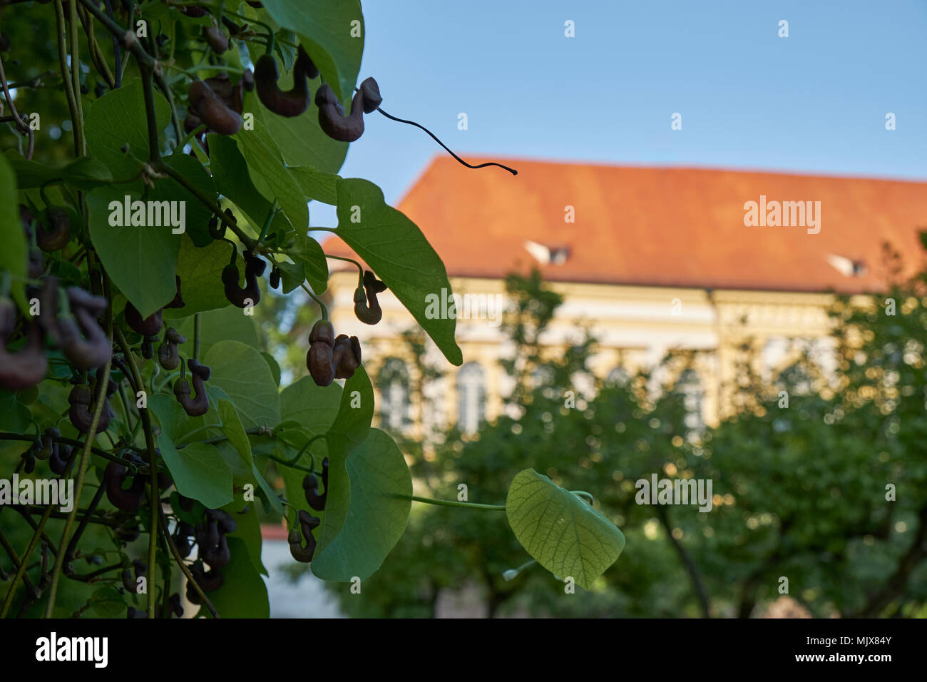
M 281 77 L 281 82 L 284 80 Z M 309 84 L 310 92 L 318 90 L 321 79 Z M 286 85 L 281 83 L 281 88 Z M 318 109 L 309 109 L 302 116 L 280 116 L 260 103 L 257 93 L 248 93 L 245 96 L 245 109 L 254 113 L 254 118 L 266 126 L 273 134 L 273 139 L 280 148 L 284 161 L 288 166 L 310 166 L 318 169 L 322 174 L 337 173 L 348 155 L 348 143 L 338 142 L 325 135 L 319 127 Z M 210 142 L 210 151 L 212 143 Z M 297 178 L 298 180 L 298 178 Z M 335 191 L 335 187 L 332 187 Z M 319 199 L 307 194 L 307 197 Z M 334 202 L 332 202 L 334 203 Z

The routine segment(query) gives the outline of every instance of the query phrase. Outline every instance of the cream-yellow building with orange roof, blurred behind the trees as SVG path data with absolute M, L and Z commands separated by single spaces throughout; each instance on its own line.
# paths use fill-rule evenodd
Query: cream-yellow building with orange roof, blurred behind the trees
M 927 183 L 503 162 L 518 175 L 437 158 L 398 206 L 438 251 L 453 290 L 491 300 L 504 295 L 508 273 L 539 268 L 565 297 L 544 340 L 552 353 L 583 325 L 598 341 L 590 366 L 602 377 L 653 366 L 670 350 L 697 352 L 687 382 L 693 409 L 709 423 L 722 411 L 722 385 L 735 379 L 741 344 L 756 347 L 767 371 L 789 364 L 794 341 L 812 344 L 826 364 L 832 294 L 881 290 L 890 277 L 885 243 L 907 256 L 903 274 L 921 265 Z M 324 247 L 354 257 L 337 237 Z M 383 358 L 373 373 L 397 378 L 395 386 L 380 382 L 389 388 L 378 403 L 388 425 L 400 428 L 413 422 L 413 406 L 399 335 L 414 321 L 385 295 L 383 322 L 359 323 L 356 282 L 356 271 L 330 280 L 333 322 Z M 446 399 L 431 418 L 472 430 L 500 413 L 511 390 L 499 365 L 506 348 L 498 321 L 458 319 L 457 329 L 464 366 L 435 352 L 435 364 L 447 368 L 435 391 Z

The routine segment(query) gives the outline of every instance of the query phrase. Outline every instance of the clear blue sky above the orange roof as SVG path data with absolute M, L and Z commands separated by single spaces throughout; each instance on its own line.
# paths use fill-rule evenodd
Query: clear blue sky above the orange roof
M 361 78 L 459 153 L 927 179 L 927 0 L 362 4 Z M 395 204 L 438 152 L 372 115 L 341 174 Z

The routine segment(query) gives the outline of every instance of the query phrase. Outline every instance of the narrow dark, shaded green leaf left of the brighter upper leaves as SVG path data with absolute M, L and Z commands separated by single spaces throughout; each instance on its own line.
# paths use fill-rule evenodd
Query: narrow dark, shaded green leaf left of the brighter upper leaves
M 235 201 L 254 225 L 263 226 L 271 201 L 261 196 L 248 175 L 248 163 L 238 151 L 235 140 L 226 135 L 207 135 L 210 145 L 210 168 L 212 180 L 223 197 Z M 271 221 L 269 232 L 290 232 L 292 227 L 282 212 L 277 212 Z M 228 260 L 226 258 L 226 260 Z

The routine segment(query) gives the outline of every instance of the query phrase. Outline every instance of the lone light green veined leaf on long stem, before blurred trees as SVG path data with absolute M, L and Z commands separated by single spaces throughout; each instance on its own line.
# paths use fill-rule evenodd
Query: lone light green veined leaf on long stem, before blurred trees
M 625 536 L 586 500 L 533 469 L 519 471 L 505 498 L 515 538 L 541 566 L 590 589 L 618 559 Z

